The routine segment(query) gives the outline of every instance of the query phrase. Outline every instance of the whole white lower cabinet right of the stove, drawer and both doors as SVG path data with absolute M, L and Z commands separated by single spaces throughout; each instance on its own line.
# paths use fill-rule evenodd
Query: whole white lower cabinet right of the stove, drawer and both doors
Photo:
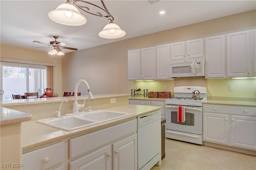
M 256 107 L 203 104 L 203 140 L 256 150 Z

